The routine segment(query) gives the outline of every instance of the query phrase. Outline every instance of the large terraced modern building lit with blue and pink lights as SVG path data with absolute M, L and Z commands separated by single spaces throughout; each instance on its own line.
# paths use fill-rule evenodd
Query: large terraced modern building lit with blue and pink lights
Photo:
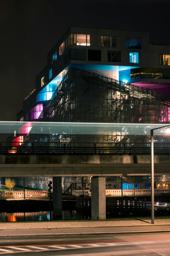
M 168 94 L 170 46 L 149 44 L 147 32 L 70 27 L 47 55 L 34 91 L 23 101 L 17 120 L 27 123 L 14 131 L 13 145 L 34 140 L 29 133 L 40 128 L 33 128 L 33 121 L 167 124 Z M 143 136 L 129 136 L 126 126 L 122 129 L 107 137 L 53 132 L 37 140 L 149 146 L 147 125 Z

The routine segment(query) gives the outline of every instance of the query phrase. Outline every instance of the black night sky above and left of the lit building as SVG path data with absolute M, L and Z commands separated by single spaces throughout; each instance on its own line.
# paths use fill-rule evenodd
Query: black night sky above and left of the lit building
M 1 0 L 0 121 L 15 121 L 69 26 L 147 31 L 170 45 L 169 0 Z

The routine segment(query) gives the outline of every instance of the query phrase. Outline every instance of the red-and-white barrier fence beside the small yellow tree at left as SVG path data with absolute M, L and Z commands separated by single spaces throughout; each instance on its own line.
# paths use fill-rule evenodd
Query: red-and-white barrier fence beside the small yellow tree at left
M 0 191 L 0 198 L 23 198 L 23 191 Z M 34 198 L 34 197 L 48 197 L 47 191 L 34 190 L 34 191 L 25 191 L 25 198 Z

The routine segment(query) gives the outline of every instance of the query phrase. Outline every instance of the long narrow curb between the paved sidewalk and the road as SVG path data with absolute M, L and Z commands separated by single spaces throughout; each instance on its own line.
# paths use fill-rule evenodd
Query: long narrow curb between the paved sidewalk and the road
M 10 234 L 0 235 L 0 237 L 35 237 L 35 236 L 66 236 L 66 235 L 114 235 L 114 234 L 145 234 L 145 233 L 168 233 L 170 230 L 154 231 L 124 231 L 124 232 L 86 232 L 86 233 L 47 233 L 47 234 Z

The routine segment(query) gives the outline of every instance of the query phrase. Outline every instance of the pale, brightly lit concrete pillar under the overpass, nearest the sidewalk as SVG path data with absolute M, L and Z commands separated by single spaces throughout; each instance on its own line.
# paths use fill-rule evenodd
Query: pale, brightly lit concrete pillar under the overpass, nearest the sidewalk
M 92 219 L 106 219 L 106 178 L 92 177 Z

